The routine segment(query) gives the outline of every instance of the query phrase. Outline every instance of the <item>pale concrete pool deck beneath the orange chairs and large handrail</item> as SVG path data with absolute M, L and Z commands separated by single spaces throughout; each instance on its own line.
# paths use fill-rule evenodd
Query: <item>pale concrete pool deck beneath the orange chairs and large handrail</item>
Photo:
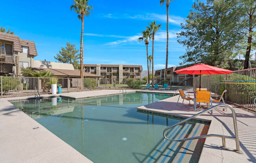
M 185 104 L 181 108 L 182 101 L 180 99 L 180 103 L 177 106 L 176 103 L 178 97 L 179 96 L 167 98 L 149 105 L 138 107 L 137 109 L 182 117 L 190 117 L 199 113 L 199 111 L 194 112 L 193 101 L 191 102 L 192 105 L 189 105 L 188 101 L 185 100 Z M 217 103 L 214 103 L 214 105 L 217 105 Z M 226 146 L 229 149 L 223 150 L 220 148 L 222 146 L 221 138 L 209 137 L 206 138 L 199 163 L 256 163 L 256 115 L 238 108 L 234 109 L 237 116 L 240 149 L 243 154 L 238 154 L 232 151 L 233 149 L 236 149 L 234 140 L 226 139 Z M 223 108 L 219 107 L 218 109 L 213 110 L 213 114 L 208 112 L 197 118 L 211 121 L 208 134 L 234 136 L 234 126 L 230 109 L 223 111 Z

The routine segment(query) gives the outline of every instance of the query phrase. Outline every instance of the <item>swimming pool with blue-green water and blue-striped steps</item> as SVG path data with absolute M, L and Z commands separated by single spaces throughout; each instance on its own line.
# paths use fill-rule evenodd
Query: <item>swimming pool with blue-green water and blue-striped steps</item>
M 186 159 L 197 162 L 204 139 L 198 140 L 195 152 L 187 155 L 180 152 L 184 142 L 163 139 L 163 129 L 181 119 L 136 109 L 168 97 L 170 95 L 129 93 L 84 100 L 47 98 L 40 102 L 11 103 L 94 163 L 181 162 Z M 168 136 L 187 137 L 195 134 L 200 125 L 201 134 L 208 125 L 191 121 L 170 130 Z M 188 145 L 184 145 L 185 152 L 190 151 Z

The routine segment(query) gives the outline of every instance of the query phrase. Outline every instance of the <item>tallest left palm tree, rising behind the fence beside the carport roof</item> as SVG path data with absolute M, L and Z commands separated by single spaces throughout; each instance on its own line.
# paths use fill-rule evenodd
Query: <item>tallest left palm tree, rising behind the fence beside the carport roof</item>
M 80 77 L 84 78 L 83 63 L 84 63 L 84 48 L 83 48 L 83 34 L 84 34 L 84 15 L 89 16 L 92 6 L 88 5 L 89 0 L 73 0 L 74 4 L 70 6 L 70 10 L 74 10 L 78 14 L 78 18 L 82 20 L 81 31 L 81 47 L 80 47 Z M 83 87 L 83 85 L 82 85 Z M 82 88 L 81 87 L 81 88 Z

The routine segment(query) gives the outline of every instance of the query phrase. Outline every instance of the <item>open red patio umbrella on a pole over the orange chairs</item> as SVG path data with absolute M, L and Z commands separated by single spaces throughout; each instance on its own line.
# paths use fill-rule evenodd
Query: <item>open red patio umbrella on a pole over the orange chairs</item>
M 221 69 L 219 67 L 214 67 L 210 65 L 206 65 L 203 63 L 198 63 L 196 65 L 186 67 L 180 70 L 174 71 L 177 74 L 190 74 L 190 75 L 200 75 L 200 84 L 199 84 L 199 90 L 201 89 L 201 74 L 202 75 L 213 75 L 213 74 L 230 74 L 230 70 Z

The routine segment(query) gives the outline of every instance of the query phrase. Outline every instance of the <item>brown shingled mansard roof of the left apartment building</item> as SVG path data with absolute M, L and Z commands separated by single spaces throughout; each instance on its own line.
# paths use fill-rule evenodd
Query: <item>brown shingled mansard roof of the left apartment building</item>
M 37 48 L 35 42 L 20 39 L 17 35 L 0 32 L 0 40 L 13 42 L 13 51 L 22 52 L 22 46 L 29 47 L 29 54 L 37 56 Z

